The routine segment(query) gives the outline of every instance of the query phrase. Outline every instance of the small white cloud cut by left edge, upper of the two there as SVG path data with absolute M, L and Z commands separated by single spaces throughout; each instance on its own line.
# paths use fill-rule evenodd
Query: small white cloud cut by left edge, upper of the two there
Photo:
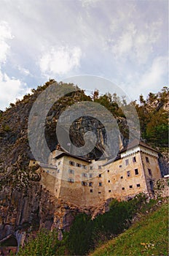
M 1 20 L 0 21 L 0 64 L 4 64 L 7 60 L 7 54 L 9 53 L 10 46 L 7 44 L 7 39 L 12 39 L 11 30 L 9 24 Z

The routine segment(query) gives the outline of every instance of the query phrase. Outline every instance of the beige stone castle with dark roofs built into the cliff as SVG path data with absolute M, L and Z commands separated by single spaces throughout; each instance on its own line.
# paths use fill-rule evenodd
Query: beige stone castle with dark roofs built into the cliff
M 36 165 L 31 160 L 30 165 Z M 42 187 L 76 206 L 96 206 L 109 198 L 126 200 L 138 193 L 153 196 L 161 178 L 158 152 L 138 140 L 119 151 L 116 159 L 87 160 L 52 151 L 47 165 L 40 164 Z

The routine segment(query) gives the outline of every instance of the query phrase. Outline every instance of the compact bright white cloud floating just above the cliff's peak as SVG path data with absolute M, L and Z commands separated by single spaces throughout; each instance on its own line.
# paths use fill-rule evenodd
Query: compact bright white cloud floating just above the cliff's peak
M 46 77 L 50 75 L 64 75 L 72 69 L 79 67 L 82 51 L 79 47 L 52 48 L 42 53 L 39 66 L 42 74 Z

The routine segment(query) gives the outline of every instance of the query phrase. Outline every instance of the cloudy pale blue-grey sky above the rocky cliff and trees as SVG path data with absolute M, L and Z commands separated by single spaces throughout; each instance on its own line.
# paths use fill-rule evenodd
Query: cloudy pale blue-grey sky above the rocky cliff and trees
M 168 1 L 0 0 L 0 110 L 79 75 L 106 78 L 131 99 L 168 86 Z

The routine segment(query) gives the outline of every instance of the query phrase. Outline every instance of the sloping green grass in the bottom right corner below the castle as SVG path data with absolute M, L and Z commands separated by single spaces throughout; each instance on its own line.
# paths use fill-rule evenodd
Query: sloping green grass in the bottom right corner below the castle
M 168 255 L 168 203 L 147 214 L 90 256 Z

